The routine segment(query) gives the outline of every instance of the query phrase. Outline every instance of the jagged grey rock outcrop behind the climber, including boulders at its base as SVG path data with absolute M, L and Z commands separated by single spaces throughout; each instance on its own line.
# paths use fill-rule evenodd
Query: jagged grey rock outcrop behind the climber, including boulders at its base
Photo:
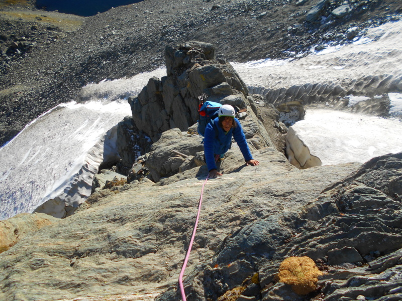
M 257 96 L 247 95 L 245 84 L 229 63 L 215 59 L 212 44 L 169 45 L 165 55 L 168 76 L 162 80 L 149 79 L 138 96 L 129 98 L 134 126 L 157 141 L 146 159 L 140 159 L 145 162 L 153 181 L 204 164 L 200 153 L 204 150 L 203 138 L 193 133 L 196 133 L 194 122 L 198 119 L 198 105 L 207 99 L 240 109 L 244 132 L 252 149 L 274 146 L 256 116 L 258 108 L 254 98 Z M 169 127 L 174 129 L 168 131 Z M 129 181 L 137 179 L 140 170 L 146 173 L 142 164 L 134 166 Z

